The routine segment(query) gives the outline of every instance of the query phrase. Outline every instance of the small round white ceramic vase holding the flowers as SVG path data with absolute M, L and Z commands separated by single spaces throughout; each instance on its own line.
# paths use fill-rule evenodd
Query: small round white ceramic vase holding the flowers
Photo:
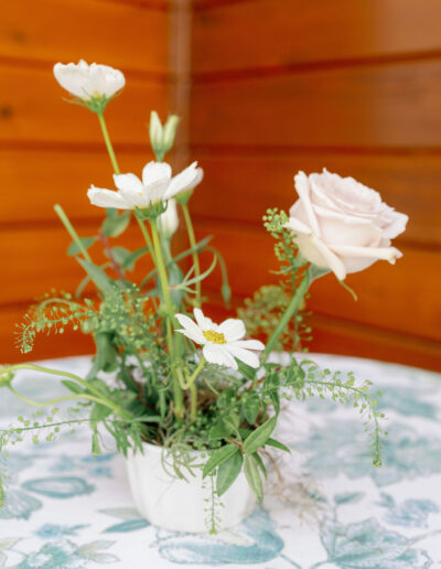
M 201 454 L 194 452 L 196 458 Z M 144 443 L 142 454 L 131 453 L 127 459 L 129 482 L 138 511 L 158 527 L 174 532 L 208 532 L 211 480 L 202 480 L 200 468 L 193 469 L 195 476 L 186 474 L 186 480 L 169 474 L 170 469 L 164 470 L 161 454 L 161 447 Z M 216 508 L 218 529 L 239 524 L 252 512 L 256 498 L 244 471 L 218 502 L 223 504 Z

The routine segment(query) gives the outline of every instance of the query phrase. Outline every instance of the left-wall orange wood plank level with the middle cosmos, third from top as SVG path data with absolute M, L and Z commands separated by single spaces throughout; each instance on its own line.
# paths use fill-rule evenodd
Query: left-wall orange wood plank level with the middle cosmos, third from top
M 141 174 L 153 157 L 146 151 L 120 151 L 122 172 Z M 90 205 L 87 189 L 115 189 L 112 168 L 103 149 L 0 149 L 0 224 L 54 222 L 53 205 L 60 202 L 72 219 L 103 218 L 104 211 Z

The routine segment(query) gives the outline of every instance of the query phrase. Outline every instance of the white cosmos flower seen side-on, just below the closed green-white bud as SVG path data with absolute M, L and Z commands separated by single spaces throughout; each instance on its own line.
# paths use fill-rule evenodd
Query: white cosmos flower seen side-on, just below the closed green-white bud
M 142 210 L 194 187 L 201 180 L 202 168 L 197 168 L 197 162 L 173 178 L 166 162 L 149 162 L 142 170 L 142 181 L 135 174 L 114 174 L 118 192 L 93 185 L 87 195 L 90 203 L 98 207 Z

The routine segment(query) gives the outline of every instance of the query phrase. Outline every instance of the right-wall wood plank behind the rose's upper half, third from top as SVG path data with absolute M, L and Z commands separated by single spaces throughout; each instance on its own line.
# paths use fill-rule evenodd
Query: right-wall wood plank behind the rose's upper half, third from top
M 251 155 L 194 152 L 205 180 L 192 212 L 214 219 L 260 223 L 268 207 L 288 210 L 297 200 L 293 174 L 327 168 L 377 190 L 386 203 L 410 216 L 406 240 L 441 245 L 439 155 L 336 154 L 289 151 Z

